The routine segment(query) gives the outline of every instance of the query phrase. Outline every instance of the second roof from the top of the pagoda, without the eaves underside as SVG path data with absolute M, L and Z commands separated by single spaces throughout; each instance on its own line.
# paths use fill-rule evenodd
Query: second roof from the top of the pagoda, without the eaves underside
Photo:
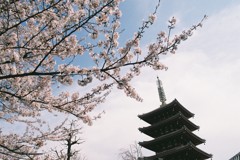
M 160 135 L 158 132 L 160 128 L 164 128 L 165 126 L 169 125 L 174 125 L 176 124 L 176 121 L 182 122 L 182 124 L 184 124 L 191 131 L 199 129 L 199 126 L 189 121 L 188 118 L 186 118 L 181 112 L 179 112 L 166 120 L 154 123 L 153 125 L 150 125 L 148 127 L 139 128 L 139 131 L 145 133 L 146 135 L 149 135 L 150 137 L 157 137 Z

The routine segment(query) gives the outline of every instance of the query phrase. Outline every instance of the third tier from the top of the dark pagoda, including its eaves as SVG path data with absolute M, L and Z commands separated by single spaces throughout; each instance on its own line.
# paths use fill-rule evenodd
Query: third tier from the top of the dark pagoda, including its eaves
M 139 145 L 154 152 L 162 152 L 164 150 L 169 150 L 181 145 L 186 145 L 189 142 L 196 146 L 205 143 L 205 140 L 193 134 L 186 127 L 183 127 L 177 131 L 171 132 L 153 140 L 139 142 Z

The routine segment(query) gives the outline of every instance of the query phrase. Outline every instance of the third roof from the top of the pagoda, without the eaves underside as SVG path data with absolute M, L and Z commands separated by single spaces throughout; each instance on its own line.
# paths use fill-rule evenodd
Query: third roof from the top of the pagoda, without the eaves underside
M 199 144 L 202 144 L 205 142 L 204 139 L 198 137 L 197 135 L 192 133 L 188 128 L 186 128 L 184 126 L 177 131 L 168 133 L 166 135 L 160 136 L 153 140 L 139 142 L 139 145 L 141 145 L 142 147 L 147 148 L 149 150 L 152 150 L 154 152 L 161 152 L 162 146 L 160 144 L 167 144 L 168 142 L 172 141 L 173 139 L 179 139 L 180 141 L 182 141 L 183 136 L 185 137 L 185 139 L 189 140 L 194 145 L 199 145 Z

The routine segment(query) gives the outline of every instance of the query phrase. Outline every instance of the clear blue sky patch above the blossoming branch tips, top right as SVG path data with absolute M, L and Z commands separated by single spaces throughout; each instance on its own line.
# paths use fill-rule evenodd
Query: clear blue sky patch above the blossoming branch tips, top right
M 158 0 L 125 0 L 121 4 L 123 16 L 121 19 L 122 28 L 125 32 L 121 35 L 123 40 L 132 33 L 136 32 L 141 26 L 142 20 L 147 19 L 147 16 L 154 10 Z M 237 0 L 161 0 L 161 6 L 158 10 L 158 19 L 156 23 L 146 32 L 143 43 L 148 43 L 155 38 L 155 35 L 160 30 L 167 29 L 167 21 L 170 17 L 175 16 L 178 18 L 178 26 L 176 32 L 182 31 L 189 26 L 197 23 L 204 15 L 214 15 L 224 8 L 228 8 L 238 4 Z

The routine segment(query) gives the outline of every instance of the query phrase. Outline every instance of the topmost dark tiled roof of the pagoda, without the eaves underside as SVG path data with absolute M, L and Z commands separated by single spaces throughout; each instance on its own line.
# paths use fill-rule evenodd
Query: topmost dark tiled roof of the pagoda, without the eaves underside
M 187 118 L 191 118 L 194 116 L 194 114 L 191 113 L 189 110 L 187 110 L 185 107 L 183 107 L 178 102 L 177 99 L 174 99 L 171 103 L 161 106 L 151 112 L 148 112 L 148 113 L 145 113 L 142 115 L 138 115 L 138 117 L 149 124 L 153 124 L 156 122 L 156 120 L 158 119 L 157 117 L 159 117 L 159 115 L 161 113 L 172 111 L 172 110 L 174 110 L 176 112 L 181 111 L 181 113 Z

